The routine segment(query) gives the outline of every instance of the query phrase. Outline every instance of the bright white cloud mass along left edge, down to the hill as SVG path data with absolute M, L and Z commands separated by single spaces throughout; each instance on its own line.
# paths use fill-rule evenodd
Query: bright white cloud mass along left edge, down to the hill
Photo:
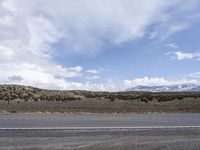
M 0 2 L 0 83 L 52 88 L 51 84 L 64 82 L 70 86 L 64 78 L 80 77 L 82 67 L 51 61 L 50 45 L 60 40 L 62 33 L 48 18 L 21 12 L 14 2 Z

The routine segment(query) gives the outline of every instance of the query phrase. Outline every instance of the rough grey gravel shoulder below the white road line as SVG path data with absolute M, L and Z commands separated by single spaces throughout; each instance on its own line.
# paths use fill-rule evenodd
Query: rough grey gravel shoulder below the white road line
M 198 150 L 200 129 L 0 130 L 1 150 Z

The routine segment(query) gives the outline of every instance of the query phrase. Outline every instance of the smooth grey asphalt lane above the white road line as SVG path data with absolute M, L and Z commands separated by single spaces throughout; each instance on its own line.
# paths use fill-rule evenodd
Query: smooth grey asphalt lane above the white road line
M 200 126 L 200 114 L 0 115 L 0 128 L 166 128 Z

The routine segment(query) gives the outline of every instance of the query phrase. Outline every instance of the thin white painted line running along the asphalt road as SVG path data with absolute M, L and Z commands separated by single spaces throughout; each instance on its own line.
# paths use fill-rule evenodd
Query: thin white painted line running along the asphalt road
M 0 128 L 0 130 L 81 130 L 81 129 L 185 129 L 200 128 L 200 126 L 143 126 L 143 127 L 19 127 Z

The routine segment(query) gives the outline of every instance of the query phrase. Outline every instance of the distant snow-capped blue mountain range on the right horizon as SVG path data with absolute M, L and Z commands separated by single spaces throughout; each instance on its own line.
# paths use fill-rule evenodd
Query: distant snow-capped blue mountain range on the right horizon
M 200 92 L 200 85 L 179 84 L 168 86 L 137 86 L 126 91 L 146 91 L 146 92 Z

